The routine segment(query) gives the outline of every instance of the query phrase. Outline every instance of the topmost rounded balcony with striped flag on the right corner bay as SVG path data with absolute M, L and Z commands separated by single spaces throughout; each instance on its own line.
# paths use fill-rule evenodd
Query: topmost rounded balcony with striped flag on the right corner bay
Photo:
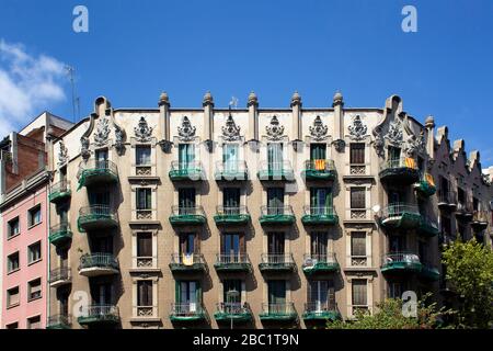
M 390 159 L 380 167 L 380 181 L 395 185 L 410 185 L 420 180 L 416 160 L 413 158 Z

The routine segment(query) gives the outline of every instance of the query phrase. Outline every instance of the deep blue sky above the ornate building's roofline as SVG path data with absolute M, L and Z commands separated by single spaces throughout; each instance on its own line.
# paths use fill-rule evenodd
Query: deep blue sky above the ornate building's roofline
M 72 31 L 77 4 L 89 9 L 89 33 Z M 417 9 L 417 33 L 401 30 L 405 4 Z M 433 114 L 451 139 L 481 150 L 483 167 L 493 165 L 491 0 L 1 0 L 0 41 L 32 59 L 28 75 L 11 71 L 10 79 L 31 105 L 15 105 L 8 93 L 2 110 L 0 97 L 4 128 L 43 110 L 71 118 L 60 71 L 70 64 L 82 115 L 100 94 L 117 107 L 157 106 L 165 90 L 172 106 L 198 107 L 206 90 L 217 106 L 232 95 L 244 105 L 254 90 L 261 107 L 273 107 L 288 106 L 298 90 L 313 107 L 329 106 L 339 89 L 346 106 L 381 107 L 397 93 L 408 113 L 420 121 Z M 4 92 L 15 88 L 1 81 L 16 67 L 11 61 L 0 59 Z

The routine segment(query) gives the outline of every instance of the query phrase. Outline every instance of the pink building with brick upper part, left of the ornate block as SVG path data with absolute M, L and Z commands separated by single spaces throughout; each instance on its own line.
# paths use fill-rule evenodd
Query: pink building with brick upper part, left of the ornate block
M 1 327 L 43 328 L 47 316 L 48 155 L 72 124 L 43 113 L 1 144 Z

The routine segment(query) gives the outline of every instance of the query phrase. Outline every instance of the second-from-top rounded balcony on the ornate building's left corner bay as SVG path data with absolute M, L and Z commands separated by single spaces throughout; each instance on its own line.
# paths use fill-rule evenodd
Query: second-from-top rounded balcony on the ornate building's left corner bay
M 112 229 L 118 226 L 118 216 L 116 211 L 106 205 L 82 207 L 79 211 L 77 225 L 82 233 Z

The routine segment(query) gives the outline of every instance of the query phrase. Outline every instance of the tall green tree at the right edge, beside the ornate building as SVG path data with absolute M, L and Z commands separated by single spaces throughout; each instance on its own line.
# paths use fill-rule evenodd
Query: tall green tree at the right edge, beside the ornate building
M 466 328 L 493 326 L 493 252 L 472 239 L 455 241 L 443 252 L 446 280 L 460 296 L 459 322 Z

